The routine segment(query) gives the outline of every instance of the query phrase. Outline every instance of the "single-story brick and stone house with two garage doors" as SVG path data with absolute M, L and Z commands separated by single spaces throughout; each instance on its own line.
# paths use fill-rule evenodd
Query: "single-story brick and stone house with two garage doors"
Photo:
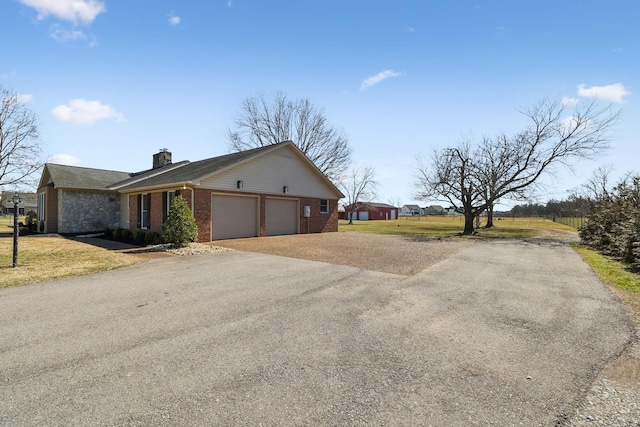
M 153 156 L 138 173 L 47 163 L 38 188 L 41 231 L 162 232 L 171 200 L 189 204 L 198 241 L 338 230 L 344 195 L 291 142 L 196 162 Z

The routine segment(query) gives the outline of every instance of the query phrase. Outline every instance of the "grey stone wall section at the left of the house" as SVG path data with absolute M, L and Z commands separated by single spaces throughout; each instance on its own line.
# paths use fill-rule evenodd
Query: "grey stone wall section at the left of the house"
M 115 193 L 58 190 L 57 205 L 58 233 L 104 231 L 120 225 L 120 197 Z

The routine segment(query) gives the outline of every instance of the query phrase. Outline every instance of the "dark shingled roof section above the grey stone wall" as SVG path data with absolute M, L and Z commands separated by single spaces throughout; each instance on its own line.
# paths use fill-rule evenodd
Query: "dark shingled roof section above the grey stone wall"
M 48 180 L 43 182 L 47 174 Z M 129 172 L 46 163 L 40 180 L 40 187 L 53 183 L 56 188 L 107 190 L 110 185 L 123 181 L 131 177 L 131 175 Z

